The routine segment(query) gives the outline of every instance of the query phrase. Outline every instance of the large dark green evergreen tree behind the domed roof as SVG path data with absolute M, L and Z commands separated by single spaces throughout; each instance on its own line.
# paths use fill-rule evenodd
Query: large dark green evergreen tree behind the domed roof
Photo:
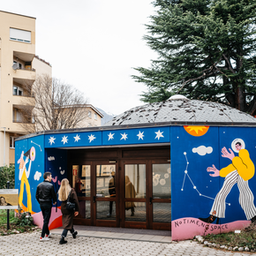
M 143 102 L 173 94 L 256 112 L 256 0 L 155 0 L 144 38 L 158 59 L 139 67 Z

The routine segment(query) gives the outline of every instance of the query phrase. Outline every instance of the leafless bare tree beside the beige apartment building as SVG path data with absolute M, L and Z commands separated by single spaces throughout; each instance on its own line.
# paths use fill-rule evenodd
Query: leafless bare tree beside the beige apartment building
M 26 108 L 22 113 L 27 122 L 21 125 L 27 132 L 77 128 L 87 119 L 87 101 L 71 85 L 42 75 L 35 79 L 31 91 L 35 97 L 34 109 Z M 28 105 L 27 100 L 23 104 Z

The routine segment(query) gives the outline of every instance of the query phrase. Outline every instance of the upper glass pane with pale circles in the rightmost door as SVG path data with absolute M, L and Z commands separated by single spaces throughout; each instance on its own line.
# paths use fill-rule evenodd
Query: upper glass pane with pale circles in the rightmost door
M 170 199 L 170 164 L 153 164 L 153 198 Z

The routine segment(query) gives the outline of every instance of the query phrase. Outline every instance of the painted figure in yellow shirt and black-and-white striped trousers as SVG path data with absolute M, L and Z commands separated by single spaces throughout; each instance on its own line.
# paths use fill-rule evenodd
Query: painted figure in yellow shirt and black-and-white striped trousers
M 207 168 L 208 172 L 213 172 L 210 174 L 211 177 L 225 177 L 225 180 L 222 189 L 215 197 L 210 216 L 205 219 L 200 218 L 201 221 L 211 223 L 217 219 L 218 223 L 219 218 L 225 218 L 226 198 L 234 184 L 237 184 L 240 193 L 239 203 L 245 212 L 247 220 L 256 221 L 256 207 L 253 203 L 254 197 L 248 184 L 248 180 L 254 176 L 255 167 L 249 152 L 245 149 L 243 139 L 234 139 L 232 149 L 238 153 L 238 156 L 235 156 L 231 149 L 229 149 L 229 152 L 226 147 L 222 148 L 222 157 L 229 158 L 232 161 L 230 165 L 220 170 L 216 169 L 215 165 Z

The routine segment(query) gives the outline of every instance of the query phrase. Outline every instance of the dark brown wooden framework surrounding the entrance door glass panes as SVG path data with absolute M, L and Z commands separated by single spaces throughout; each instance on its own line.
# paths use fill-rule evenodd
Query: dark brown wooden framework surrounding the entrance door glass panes
M 96 225 L 96 226 L 110 226 L 110 227 L 129 227 L 138 229 L 153 229 L 153 230 L 170 230 L 170 223 L 154 223 L 153 222 L 153 204 L 149 206 L 150 195 L 152 196 L 152 164 L 153 163 L 168 163 L 170 153 L 168 153 L 169 147 L 122 147 L 122 148 L 94 148 L 94 149 L 72 149 L 71 154 L 68 154 L 68 169 L 72 170 L 72 165 L 87 165 L 91 166 L 91 218 L 81 219 L 74 218 L 75 224 L 83 225 Z M 76 151 L 78 150 L 78 151 Z M 137 153 L 137 151 L 138 153 Z M 149 151 L 148 151 L 149 150 Z M 76 151 L 76 152 L 75 152 Z M 139 154 L 141 152 L 142 154 Z M 99 154 L 101 159 L 99 160 Z M 148 160 L 149 158 L 149 160 Z M 109 164 L 109 160 L 116 161 L 116 221 L 110 220 L 96 220 L 96 204 L 94 203 L 94 196 L 96 193 L 96 165 Z M 125 223 L 125 207 L 124 207 L 124 186 L 122 188 L 122 178 L 124 180 L 124 164 L 146 164 L 146 210 L 147 219 L 146 222 L 126 222 Z M 94 173 L 94 175 L 93 175 Z M 72 171 L 68 171 L 68 179 L 72 181 Z M 94 192 L 92 192 L 94 188 Z M 103 200 L 103 199 L 102 199 Z M 135 199 L 134 201 L 141 201 Z M 152 200 L 156 202 L 157 200 Z M 169 200 L 170 201 L 170 200 Z M 119 205 L 119 207 L 118 207 Z

